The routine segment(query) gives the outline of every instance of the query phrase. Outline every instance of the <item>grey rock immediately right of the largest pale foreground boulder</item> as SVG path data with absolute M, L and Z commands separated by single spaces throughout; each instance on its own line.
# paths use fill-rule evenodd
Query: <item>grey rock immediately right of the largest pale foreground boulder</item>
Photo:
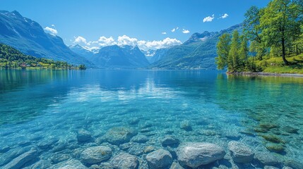
M 228 149 L 234 162 L 250 163 L 254 158 L 254 153 L 248 146 L 241 142 L 231 141 L 228 143 Z

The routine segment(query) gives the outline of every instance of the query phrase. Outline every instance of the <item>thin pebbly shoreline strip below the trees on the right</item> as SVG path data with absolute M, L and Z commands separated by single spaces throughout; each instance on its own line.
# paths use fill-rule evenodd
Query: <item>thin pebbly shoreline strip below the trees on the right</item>
M 251 76 L 280 76 L 280 77 L 303 77 L 303 74 L 292 74 L 292 73 L 263 73 L 263 72 L 240 72 L 230 73 L 226 72 L 227 75 L 251 75 Z

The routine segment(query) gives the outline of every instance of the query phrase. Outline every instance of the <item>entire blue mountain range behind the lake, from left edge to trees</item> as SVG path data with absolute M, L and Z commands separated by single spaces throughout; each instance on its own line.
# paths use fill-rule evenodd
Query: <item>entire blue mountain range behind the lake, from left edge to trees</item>
M 220 32 L 194 33 L 181 45 L 167 49 L 141 51 L 138 46 L 105 46 L 90 50 L 78 44 L 66 46 L 61 37 L 44 32 L 33 20 L 17 11 L 0 11 L 0 43 L 37 58 L 51 58 L 88 68 L 215 69 L 219 37 L 242 25 Z

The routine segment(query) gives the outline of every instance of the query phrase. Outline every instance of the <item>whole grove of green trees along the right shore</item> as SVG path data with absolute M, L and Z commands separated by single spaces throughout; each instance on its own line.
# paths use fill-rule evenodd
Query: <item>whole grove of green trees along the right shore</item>
M 228 72 L 261 71 L 255 61 L 303 53 L 303 1 L 273 0 L 265 8 L 251 6 L 245 13 L 243 31 L 225 33 L 217 44 L 215 62 Z M 240 35 L 241 33 L 241 35 Z

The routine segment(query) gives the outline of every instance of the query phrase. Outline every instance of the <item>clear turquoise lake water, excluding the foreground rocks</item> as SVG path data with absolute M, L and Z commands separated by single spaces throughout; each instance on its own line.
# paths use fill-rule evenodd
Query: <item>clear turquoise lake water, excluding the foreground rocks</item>
M 138 149 L 160 149 L 166 135 L 180 142 L 211 142 L 227 152 L 227 143 L 237 140 L 255 152 L 270 152 L 282 168 L 303 161 L 302 99 L 300 77 L 206 70 L 0 70 L 0 168 L 36 146 L 39 154 L 23 168 L 78 159 L 78 151 L 99 144 L 118 154 L 121 146 L 97 140 L 121 126 L 148 137 Z M 92 134 L 90 142 L 77 141 L 82 129 Z M 146 154 L 138 151 L 130 153 L 147 168 Z M 66 158 L 57 159 L 58 154 Z

